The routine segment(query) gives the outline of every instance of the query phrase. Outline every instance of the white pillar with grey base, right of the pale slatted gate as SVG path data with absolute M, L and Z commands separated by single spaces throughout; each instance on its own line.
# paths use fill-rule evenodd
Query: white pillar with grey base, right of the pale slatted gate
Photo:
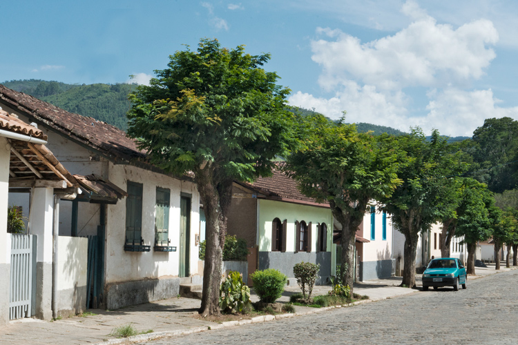
M 52 318 L 52 188 L 35 188 L 30 234 L 38 236 L 36 264 L 36 317 Z

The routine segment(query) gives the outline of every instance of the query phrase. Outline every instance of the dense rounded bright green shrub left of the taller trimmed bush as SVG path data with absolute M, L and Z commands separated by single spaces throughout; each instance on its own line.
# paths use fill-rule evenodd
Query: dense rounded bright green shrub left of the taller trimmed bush
M 275 303 L 282 296 L 287 277 L 274 268 L 256 270 L 251 276 L 253 290 L 256 291 L 261 302 Z

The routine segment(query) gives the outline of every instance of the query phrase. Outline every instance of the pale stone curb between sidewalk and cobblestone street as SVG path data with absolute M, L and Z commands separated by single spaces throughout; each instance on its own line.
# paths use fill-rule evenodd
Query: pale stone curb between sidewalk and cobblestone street
M 398 295 L 394 297 L 404 296 L 404 295 L 410 295 L 410 293 L 417 292 L 416 290 L 409 290 L 408 293 L 405 293 L 403 295 Z M 392 297 L 391 297 L 392 298 Z M 277 315 L 260 315 L 256 317 L 252 317 L 251 319 L 244 319 L 244 320 L 236 320 L 236 321 L 226 321 L 222 322 L 221 324 L 214 324 L 213 326 L 200 326 L 196 328 L 191 328 L 184 331 L 162 331 L 162 332 L 153 332 L 148 334 L 140 334 L 140 335 L 133 335 L 132 337 L 127 338 L 117 338 L 117 339 L 109 339 L 106 342 L 98 342 L 94 343 L 93 345 L 119 345 L 119 344 L 131 344 L 133 342 L 148 342 L 155 339 L 160 339 L 164 337 L 175 337 L 178 335 L 189 335 L 192 333 L 200 333 L 204 331 L 213 331 L 217 329 L 227 328 L 227 327 L 234 327 L 234 326 L 242 326 L 244 324 L 256 324 L 258 322 L 268 322 L 273 321 L 275 319 L 287 319 L 290 317 L 297 317 L 302 315 L 309 315 L 314 313 L 322 313 L 324 311 L 329 311 L 332 309 L 337 308 L 347 308 L 351 306 L 381 301 L 382 299 L 361 299 L 360 301 L 352 302 L 349 304 L 342 304 L 339 306 L 327 306 L 323 308 L 309 308 L 307 311 L 298 312 L 298 313 L 286 313 L 286 314 L 277 314 Z

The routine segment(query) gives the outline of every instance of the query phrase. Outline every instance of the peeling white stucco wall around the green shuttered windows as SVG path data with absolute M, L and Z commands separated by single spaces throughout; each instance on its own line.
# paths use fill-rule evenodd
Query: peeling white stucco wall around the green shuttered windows
M 198 274 L 198 246 L 195 235 L 200 230 L 200 196 L 195 184 L 180 181 L 173 177 L 158 174 L 134 166 L 109 165 L 108 179 L 120 188 L 127 190 L 127 182 L 143 184 L 142 195 L 142 237 L 144 244 L 151 245 L 150 252 L 131 253 L 124 251 L 126 234 L 126 199 L 116 205 L 108 205 L 106 222 L 106 283 L 124 282 L 144 278 L 178 276 L 180 266 L 180 193 L 191 194 L 190 259 L 191 275 Z M 155 239 L 155 201 L 156 187 L 171 190 L 169 210 L 170 246 L 177 251 L 161 253 L 153 251 Z

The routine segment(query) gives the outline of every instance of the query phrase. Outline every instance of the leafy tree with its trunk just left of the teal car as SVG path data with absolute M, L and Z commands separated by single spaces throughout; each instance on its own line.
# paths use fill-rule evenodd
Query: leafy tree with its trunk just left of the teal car
M 454 183 L 450 176 L 458 175 L 463 164 L 450 154 L 447 139 L 437 130 L 433 130 L 430 141 L 419 128 L 397 138 L 399 147 L 406 152 L 398 172 L 403 184 L 383 202 L 384 209 L 392 214 L 392 224 L 405 235 L 402 285 L 414 288 L 419 233 L 429 230 L 451 212 L 451 206 L 445 202 L 449 198 L 450 184 Z

